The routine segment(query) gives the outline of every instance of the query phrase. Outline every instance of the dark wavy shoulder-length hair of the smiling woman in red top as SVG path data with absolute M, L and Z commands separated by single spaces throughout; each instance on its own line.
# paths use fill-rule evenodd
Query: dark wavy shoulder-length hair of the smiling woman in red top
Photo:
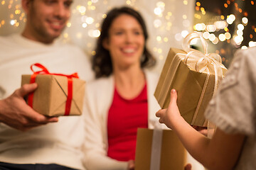
M 107 13 L 107 17 L 102 22 L 100 37 L 97 39 L 97 47 L 95 49 L 96 54 L 92 56 L 92 69 L 95 72 L 95 77 L 108 77 L 113 72 L 112 61 L 110 57 L 110 52 L 103 47 L 103 40 L 109 38 L 109 30 L 112 22 L 115 18 L 122 14 L 128 14 L 137 19 L 139 24 L 142 26 L 142 30 L 145 38 L 145 46 L 144 52 L 141 60 L 141 67 L 153 67 L 156 64 L 156 59 L 151 52 L 146 48 L 146 40 L 148 39 L 148 33 L 146 30 L 146 24 L 144 19 L 139 14 L 139 12 L 135 11 L 133 8 L 129 7 L 121 7 L 121 8 L 113 8 L 111 11 Z

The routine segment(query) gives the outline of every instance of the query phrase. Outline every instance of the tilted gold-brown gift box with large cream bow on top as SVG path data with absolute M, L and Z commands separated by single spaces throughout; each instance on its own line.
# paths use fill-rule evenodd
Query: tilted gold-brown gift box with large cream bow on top
M 195 38 L 200 38 L 204 53 L 189 47 Z M 206 40 L 200 33 L 193 32 L 184 38 L 183 50 L 171 48 L 169 51 L 154 96 L 161 108 L 167 108 L 170 91 L 176 89 L 183 118 L 191 125 L 206 127 L 203 113 L 225 72 L 221 57 L 208 54 Z

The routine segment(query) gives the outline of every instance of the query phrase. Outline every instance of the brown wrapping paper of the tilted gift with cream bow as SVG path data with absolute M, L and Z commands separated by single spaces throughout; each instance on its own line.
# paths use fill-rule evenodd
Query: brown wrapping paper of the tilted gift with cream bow
M 154 96 L 161 108 L 167 108 L 170 102 L 171 89 L 176 89 L 178 92 L 177 105 L 182 117 L 191 125 L 206 127 L 207 121 L 203 113 L 213 97 L 215 88 L 214 67 L 210 65 L 208 72 L 197 72 L 196 69 L 188 67 L 183 62 L 184 55 L 181 54 L 186 55 L 187 53 L 176 48 L 171 48 L 169 51 Z M 227 69 L 224 68 L 222 71 L 224 74 Z M 206 89 L 203 98 L 201 98 L 204 86 Z M 199 102 L 200 98 L 202 100 Z M 199 106 L 198 103 L 200 103 Z

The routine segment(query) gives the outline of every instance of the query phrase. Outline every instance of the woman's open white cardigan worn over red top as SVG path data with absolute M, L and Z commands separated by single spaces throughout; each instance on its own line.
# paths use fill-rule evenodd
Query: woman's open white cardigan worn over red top
M 158 75 L 144 71 L 148 99 L 148 125 L 158 122 L 155 113 L 160 106 L 154 98 Z M 114 78 L 97 79 L 87 84 L 85 105 L 85 166 L 88 170 L 126 170 L 128 163 L 107 157 L 107 114 L 114 95 Z

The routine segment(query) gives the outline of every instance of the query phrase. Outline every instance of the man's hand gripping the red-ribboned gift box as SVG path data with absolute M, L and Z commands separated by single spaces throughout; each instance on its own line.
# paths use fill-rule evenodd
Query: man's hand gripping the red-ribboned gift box
M 0 100 L 0 122 L 17 130 L 26 131 L 39 125 L 58 122 L 58 118 L 41 115 L 26 104 L 23 97 L 36 90 L 37 84 L 24 84 L 8 98 Z

